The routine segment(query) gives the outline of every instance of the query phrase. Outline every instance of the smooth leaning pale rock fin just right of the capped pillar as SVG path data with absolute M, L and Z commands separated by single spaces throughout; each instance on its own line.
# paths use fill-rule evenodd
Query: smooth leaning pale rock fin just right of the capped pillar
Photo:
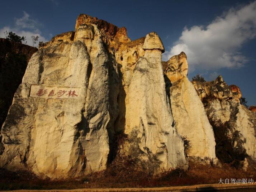
M 188 80 L 188 62 L 181 52 L 163 63 L 166 91 L 170 96 L 176 128 L 191 143 L 189 156 L 215 159 L 215 140 L 212 126 L 193 84 Z M 171 84 L 171 85 L 170 85 Z M 168 86 L 169 85 L 169 86 Z

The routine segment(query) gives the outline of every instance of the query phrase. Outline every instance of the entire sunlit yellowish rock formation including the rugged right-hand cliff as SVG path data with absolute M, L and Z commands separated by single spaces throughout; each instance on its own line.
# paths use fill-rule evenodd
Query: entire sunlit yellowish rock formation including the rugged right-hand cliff
M 240 104 L 239 87 L 221 76 L 193 86 L 186 54 L 162 62 L 164 51 L 155 32 L 131 41 L 124 27 L 79 15 L 74 32 L 41 44 L 29 60 L 1 129 L 0 167 L 79 177 L 126 155 L 153 174 L 187 169 L 186 155 L 215 162 L 216 127 L 237 154 L 255 158 L 255 109 Z

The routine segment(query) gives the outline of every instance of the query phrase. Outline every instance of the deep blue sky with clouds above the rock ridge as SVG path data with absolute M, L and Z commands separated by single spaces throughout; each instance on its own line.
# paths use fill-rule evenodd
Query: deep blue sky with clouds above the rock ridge
M 189 78 L 206 80 L 219 74 L 241 88 L 249 105 L 256 105 L 256 1 L 3 1 L 0 37 L 5 30 L 43 41 L 74 30 L 80 13 L 126 27 L 134 40 L 155 31 L 166 49 L 163 59 L 184 51 Z

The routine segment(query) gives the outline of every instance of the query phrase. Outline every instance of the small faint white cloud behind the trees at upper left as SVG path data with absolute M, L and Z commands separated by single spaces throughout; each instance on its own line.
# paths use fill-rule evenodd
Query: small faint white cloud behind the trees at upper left
M 43 42 L 48 41 L 45 37 L 42 36 L 41 31 L 39 30 L 39 27 L 41 27 L 41 26 L 42 26 L 42 24 L 40 24 L 38 21 L 36 21 L 34 19 L 31 19 L 29 14 L 27 12 L 23 11 L 22 18 L 15 19 L 15 24 L 13 27 L 5 26 L 0 29 L 0 37 L 5 38 L 4 37 L 5 31 L 13 32 L 21 37 L 25 36 L 27 39 L 26 40 L 27 44 L 32 46 L 33 45 L 33 42 L 31 39 L 32 35 L 39 36 L 38 42 L 39 41 L 43 41 Z M 37 46 L 38 42 L 34 46 Z M 23 43 L 25 43 L 25 42 L 23 42 Z

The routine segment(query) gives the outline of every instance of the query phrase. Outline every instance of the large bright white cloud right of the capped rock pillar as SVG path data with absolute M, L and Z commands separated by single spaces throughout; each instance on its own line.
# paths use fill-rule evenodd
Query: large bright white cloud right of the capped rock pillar
M 248 59 L 239 52 L 242 44 L 256 37 L 256 1 L 230 9 L 212 23 L 184 28 L 179 40 L 163 59 L 184 51 L 190 69 L 241 67 Z

